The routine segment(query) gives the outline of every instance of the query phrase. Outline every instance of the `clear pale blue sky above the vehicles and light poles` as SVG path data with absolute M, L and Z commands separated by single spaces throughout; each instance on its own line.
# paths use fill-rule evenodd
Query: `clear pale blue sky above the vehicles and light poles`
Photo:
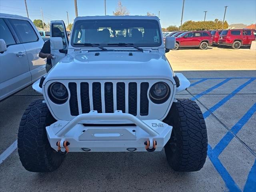
M 44 15 L 44 22 L 50 20 L 64 20 L 67 24 L 75 18 L 74 0 L 26 0 L 29 18 L 42 19 L 40 8 Z M 160 11 L 161 26 L 180 26 L 183 0 L 121 0 L 130 15 L 146 15 L 147 12 L 158 16 Z M 106 14 L 113 15 L 118 0 L 106 0 Z M 256 0 L 185 0 L 183 22 L 187 20 L 206 20 L 218 18 L 223 20 L 224 6 L 225 20 L 228 24 L 243 23 L 246 25 L 256 23 Z M 104 0 L 77 0 L 78 16 L 104 15 Z M 0 0 L 0 12 L 26 16 L 24 0 Z

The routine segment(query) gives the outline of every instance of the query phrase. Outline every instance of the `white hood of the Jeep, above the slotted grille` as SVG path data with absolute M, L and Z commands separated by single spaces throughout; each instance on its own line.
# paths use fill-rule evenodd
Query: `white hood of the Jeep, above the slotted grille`
M 147 79 L 174 76 L 170 64 L 158 52 L 73 52 L 48 73 L 46 81 L 58 79 Z

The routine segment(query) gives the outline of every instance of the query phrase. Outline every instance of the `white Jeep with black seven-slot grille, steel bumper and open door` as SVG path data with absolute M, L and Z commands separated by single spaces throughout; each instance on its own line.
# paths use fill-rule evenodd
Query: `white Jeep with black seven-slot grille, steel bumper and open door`
M 207 132 L 196 102 L 176 99 L 190 86 L 174 73 L 155 16 L 86 16 L 51 22 L 52 69 L 33 84 L 18 131 L 18 154 L 31 172 L 56 170 L 68 152 L 156 152 L 176 171 L 200 170 Z M 67 45 L 67 46 L 66 46 Z

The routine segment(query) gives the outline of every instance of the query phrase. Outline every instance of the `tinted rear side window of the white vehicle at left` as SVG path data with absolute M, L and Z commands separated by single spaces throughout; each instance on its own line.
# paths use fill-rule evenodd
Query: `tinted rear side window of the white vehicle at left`
M 9 19 L 21 43 L 35 42 L 38 36 L 31 26 L 30 22 L 26 20 Z

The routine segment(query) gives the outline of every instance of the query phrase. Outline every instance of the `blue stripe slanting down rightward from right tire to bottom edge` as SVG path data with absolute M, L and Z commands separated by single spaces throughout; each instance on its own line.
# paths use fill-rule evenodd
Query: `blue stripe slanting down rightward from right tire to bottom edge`
M 210 158 L 212 164 L 224 180 L 228 190 L 232 192 L 241 192 L 240 188 L 236 185 L 226 168 L 222 165 L 219 158 L 214 154 L 211 146 L 208 144 L 208 157 Z

